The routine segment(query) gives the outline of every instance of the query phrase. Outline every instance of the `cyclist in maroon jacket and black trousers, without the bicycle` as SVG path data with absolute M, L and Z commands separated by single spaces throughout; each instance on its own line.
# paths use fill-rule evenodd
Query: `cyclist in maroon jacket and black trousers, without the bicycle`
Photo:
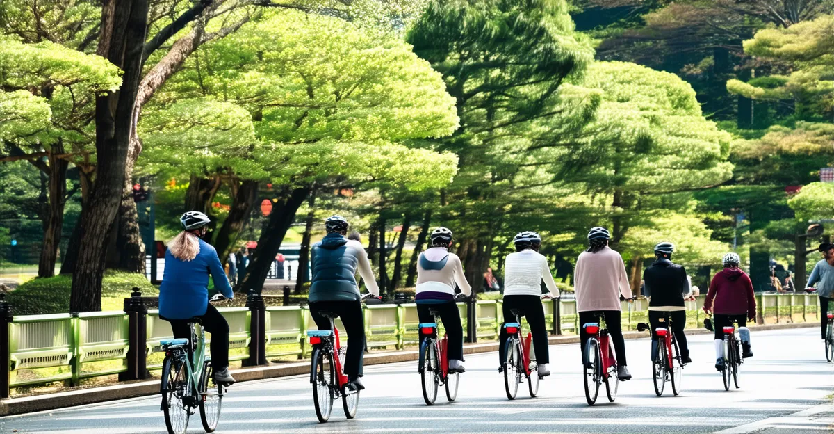
M 732 325 L 733 320 L 738 321 L 742 357 L 746 359 L 753 356 L 747 320 L 756 319 L 756 295 L 753 293 L 750 276 L 739 268 L 741 258 L 730 252 L 724 255 L 723 262 L 724 270 L 712 277 L 710 290 L 704 300 L 704 311 L 707 315 L 713 315 L 718 371 L 724 369 L 724 327 Z

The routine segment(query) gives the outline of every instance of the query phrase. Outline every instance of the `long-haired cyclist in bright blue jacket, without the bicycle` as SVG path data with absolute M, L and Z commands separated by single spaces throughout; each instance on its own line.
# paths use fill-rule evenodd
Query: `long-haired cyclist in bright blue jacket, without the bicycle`
M 208 303 L 208 276 L 214 288 L 232 298 L 232 286 L 214 247 L 202 240 L 206 235 L 208 215 L 188 211 L 180 217 L 183 231 L 168 243 L 165 271 L 159 285 L 159 315 L 171 323 L 173 337 L 191 339 L 188 320 L 199 318 L 211 333 L 211 357 L 214 381 L 232 384 L 229 375 L 229 323 Z

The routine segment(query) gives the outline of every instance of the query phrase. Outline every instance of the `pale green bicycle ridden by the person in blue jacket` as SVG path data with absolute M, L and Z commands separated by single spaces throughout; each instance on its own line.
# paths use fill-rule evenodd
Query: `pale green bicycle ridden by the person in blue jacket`
M 224 300 L 215 295 L 211 301 Z M 167 320 L 160 316 L 163 320 Z M 165 359 L 159 393 L 160 410 L 170 434 L 183 434 L 188 420 L 199 408 L 203 430 L 213 432 L 220 420 L 226 385 L 214 381 L 211 357 L 206 356 L 205 331 L 200 318 L 188 320 L 191 339 L 168 339 L 160 342 Z

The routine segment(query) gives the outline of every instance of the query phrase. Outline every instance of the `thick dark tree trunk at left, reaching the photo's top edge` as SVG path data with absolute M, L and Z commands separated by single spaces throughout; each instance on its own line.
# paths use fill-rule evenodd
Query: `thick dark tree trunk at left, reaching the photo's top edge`
M 108 230 L 124 189 L 128 150 L 133 145 L 133 114 L 148 28 L 148 0 L 106 0 L 102 8 L 98 54 L 122 68 L 122 87 L 96 98 L 97 174 L 81 214 L 78 262 L 69 308 L 101 310 Z

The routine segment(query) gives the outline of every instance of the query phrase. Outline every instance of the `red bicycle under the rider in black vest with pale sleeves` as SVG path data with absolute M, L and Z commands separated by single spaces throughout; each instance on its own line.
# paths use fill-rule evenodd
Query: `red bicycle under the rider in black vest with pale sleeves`
M 681 351 L 678 348 L 677 339 L 671 330 L 671 314 L 664 312 L 663 317 L 658 318 L 658 321 L 663 323 L 664 326 L 655 329 L 658 345 L 655 354 L 651 355 L 652 379 L 655 385 L 655 394 L 662 396 L 663 390 L 666 388 L 666 381 L 670 381 L 672 394 L 678 396 L 681 393 L 683 368 L 686 366 L 686 363 L 681 359 Z M 650 325 L 643 322 L 637 324 L 637 331 L 647 330 L 651 330 Z

